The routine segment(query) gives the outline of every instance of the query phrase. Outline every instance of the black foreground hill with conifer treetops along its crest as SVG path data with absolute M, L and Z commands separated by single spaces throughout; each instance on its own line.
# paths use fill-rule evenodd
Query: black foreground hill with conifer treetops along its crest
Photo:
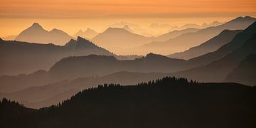
M 239 94 L 239 95 L 238 95 Z M 255 87 L 163 78 L 99 85 L 1 127 L 255 127 Z

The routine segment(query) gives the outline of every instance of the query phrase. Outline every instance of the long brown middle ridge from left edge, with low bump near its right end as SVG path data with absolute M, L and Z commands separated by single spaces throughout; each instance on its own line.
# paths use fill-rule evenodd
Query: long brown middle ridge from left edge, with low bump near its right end
M 63 58 L 48 71 L 30 75 L 1 76 L 1 92 L 15 92 L 26 87 L 46 85 L 62 80 L 102 76 L 120 71 L 137 73 L 174 73 L 185 70 L 185 60 L 149 54 L 136 60 L 117 60 L 113 56 L 87 55 Z

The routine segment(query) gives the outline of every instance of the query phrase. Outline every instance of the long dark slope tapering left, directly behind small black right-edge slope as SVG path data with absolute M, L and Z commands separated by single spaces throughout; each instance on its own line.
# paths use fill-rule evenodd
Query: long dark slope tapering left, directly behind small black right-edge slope
M 247 35 L 249 34 L 247 33 Z M 223 81 L 227 77 L 228 73 L 230 73 L 233 68 L 237 67 L 239 63 L 248 55 L 256 54 L 255 41 L 256 33 L 251 36 L 251 38 L 248 39 L 242 46 L 233 51 L 230 51 L 228 55 L 225 55 L 224 57 L 219 58 L 218 60 L 215 60 L 207 65 L 201 65 L 200 67 L 193 68 L 191 70 L 176 73 L 176 76 L 186 76 L 187 78 L 204 82 Z M 231 48 L 231 45 L 232 44 L 230 43 L 230 45 L 228 45 L 230 47 L 228 48 Z

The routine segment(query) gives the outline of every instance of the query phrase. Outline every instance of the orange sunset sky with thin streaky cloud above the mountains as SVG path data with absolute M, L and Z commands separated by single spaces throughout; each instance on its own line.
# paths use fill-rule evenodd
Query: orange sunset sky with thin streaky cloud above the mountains
M 16 35 L 33 22 L 73 35 L 88 27 L 103 31 L 120 21 L 181 26 L 247 15 L 256 16 L 255 0 L 1 0 L 0 37 Z

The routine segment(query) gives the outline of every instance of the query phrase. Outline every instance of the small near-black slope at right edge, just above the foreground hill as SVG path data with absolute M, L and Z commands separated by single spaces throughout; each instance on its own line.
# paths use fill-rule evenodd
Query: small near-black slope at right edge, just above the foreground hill
M 256 85 L 256 55 L 250 54 L 228 74 L 225 82 L 238 82 L 246 85 Z

